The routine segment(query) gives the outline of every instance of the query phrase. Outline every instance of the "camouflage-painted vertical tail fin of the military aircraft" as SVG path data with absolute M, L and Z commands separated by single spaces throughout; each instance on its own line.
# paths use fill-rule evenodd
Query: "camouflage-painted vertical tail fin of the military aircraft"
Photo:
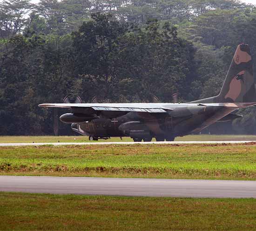
M 218 96 L 193 103 L 249 103 L 256 102 L 255 80 L 249 45 L 240 44 Z M 191 102 L 192 103 L 192 102 Z

